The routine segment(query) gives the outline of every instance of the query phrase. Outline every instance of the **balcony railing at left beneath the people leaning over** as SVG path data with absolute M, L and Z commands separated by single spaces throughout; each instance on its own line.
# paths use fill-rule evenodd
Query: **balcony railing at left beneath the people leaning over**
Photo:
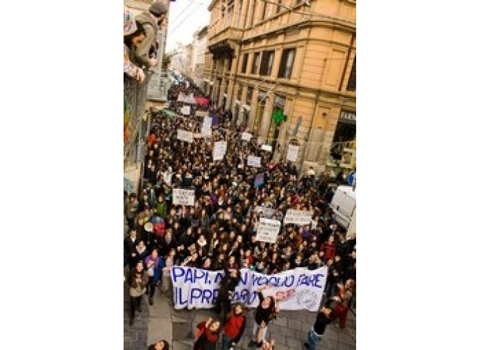
M 131 78 L 124 77 L 123 90 L 126 99 L 126 107 L 130 110 L 130 120 L 128 122 L 128 139 L 124 144 L 124 159 L 131 151 L 131 147 L 140 131 L 142 115 L 146 110 L 146 90 L 153 74 L 145 72 L 145 81 L 139 83 Z

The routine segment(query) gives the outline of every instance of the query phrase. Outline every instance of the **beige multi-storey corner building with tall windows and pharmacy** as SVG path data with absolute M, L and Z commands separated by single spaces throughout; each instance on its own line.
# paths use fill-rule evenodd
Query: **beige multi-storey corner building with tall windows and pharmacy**
M 303 169 L 353 168 L 355 1 L 213 0 L 209 10 L 212 101 L 273 145 L 276 159 L 292 143 Z

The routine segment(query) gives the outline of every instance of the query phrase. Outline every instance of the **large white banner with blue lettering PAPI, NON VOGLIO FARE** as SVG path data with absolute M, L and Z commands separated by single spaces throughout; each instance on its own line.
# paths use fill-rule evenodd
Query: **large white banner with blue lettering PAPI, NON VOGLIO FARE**
M 321 304 L 327 267 L 308 270 L 303 267 L 265 275 L 249 269 L 240 270 L 240 282 L 233 292 L 232 302 L 244 303 L 248 308 L 258 306 L 258 289 L 271 285 L 263 296 L 280 299 L 280 310 L 309 310 L 316 312 Z M 171 269 L 174 308 L 213 308 L 219 294 L 222 271 L 208 271 L 194 267 L 174 266 Z

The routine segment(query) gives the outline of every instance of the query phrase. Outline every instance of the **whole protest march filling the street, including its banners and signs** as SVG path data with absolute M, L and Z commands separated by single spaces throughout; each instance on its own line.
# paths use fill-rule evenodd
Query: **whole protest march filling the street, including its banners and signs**
M 184 86 L 172 89 L 189 96 Z M 153 115 L 142 186 L 124 192 L 130 324 L 137 300 L 152 304 L 160 289 L 176 309 L 213 309 L 218 326 L 237 305 L 257 308 L 257 346 L 280 310 L 325 313 L 344 327 L 355 236 L 346 238 L 329 207 L 334 179 L 301 175 L 297 146 L 275 160 L 228 111 L 196 113 L 185 103 Z

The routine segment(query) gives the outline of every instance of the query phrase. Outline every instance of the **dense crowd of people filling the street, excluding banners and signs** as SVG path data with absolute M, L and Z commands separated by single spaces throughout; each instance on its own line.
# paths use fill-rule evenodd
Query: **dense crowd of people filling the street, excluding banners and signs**
M 180 91 L 195 92 L 176 85 L 169 95 L 177 97 Z M 230 300 L 239 269 L 276 274 L 326 265 L 326 306 L 308 333 L 309 349 L 315 349 L 326 320 L 339 318 L 339 326 L 345 327 L 355 291 L 355 237 L 346 238 L 328 206 L 334 194 L 329 184 L 334 179 L 316 176 L 312 169 L 300 176 L 291 162 L 276 163 L 255 138 L 242 140 L 246 126 L 232 125 L 225 110 L 210 108 L 210 115 L 215 118 L 211 138 L 201 137 L 203 117 L 158 113 L 152 118 L 140 197 L 125 192 L 124 263 L 131 271 L 131 324 L 143 294 L 152 304 L 160 286 L 165 297 L 171 298 L 172 266 L 224 270 L 215 301 L 219 316 L 198 325 L 194 349 L 210 349 L 219 341 L 220 330 L 223 349 L 230 349 L 242 337 L 246 323 L 244 306 L 232 305 Z M 194 133 L 193 142 L 178 140 L 178 128 Z M 219 140 L 226 140 L 228 147 L 224 158 L 214 161 L 212 147 Z M 261 157 L 261 167 L 249 167 L 249 155 Z M 257 185 L 255 178 L 260 173 L 264 181 Z M 174 188 L 194 190 L 194 206 L 174 205 Z M 269 215 L 281 221 L 288 209 L 313 212 L 311 223 L 282 225 L 274 244 L 258 242 L 255 233 L 260 218 Z M 274 298 L 263 298 L 260 290 L 258 296 L 249 345 L 265 350 L 274 345 L 267 342 L 266 333 L 278 308 Z

